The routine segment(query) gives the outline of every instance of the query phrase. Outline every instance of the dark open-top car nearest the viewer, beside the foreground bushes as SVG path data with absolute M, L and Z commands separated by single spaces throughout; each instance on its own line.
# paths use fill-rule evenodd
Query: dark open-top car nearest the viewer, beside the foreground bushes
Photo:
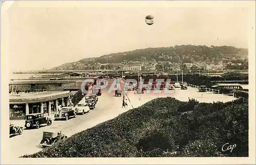
M 42 147 L 47 147 L 47 146 L 52 146 L 55 143 L 59 142 L 62 139 L 68 138 L 65 134 L 58 132 L 53 133 L 53 132 L 43 132 L 42 133 L 42 140 L 40 142 L 40 145 Z

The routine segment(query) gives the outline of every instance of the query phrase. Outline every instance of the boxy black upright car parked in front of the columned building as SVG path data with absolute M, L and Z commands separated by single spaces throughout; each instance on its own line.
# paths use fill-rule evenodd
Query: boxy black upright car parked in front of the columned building
M 52 119 L 48 116 L 44 116 L 44 113 L 32 113 L 26 115 L 26 128 L 39 128 L 42 124 L 52 125 Z

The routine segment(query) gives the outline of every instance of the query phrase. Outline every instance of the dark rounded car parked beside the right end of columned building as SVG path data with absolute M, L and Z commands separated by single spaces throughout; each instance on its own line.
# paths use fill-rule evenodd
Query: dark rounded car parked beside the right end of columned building
M 65 119 L 67 121 L 70 117 L 76 117 L 76 111 L 73 107 L 62 107 L 54 114 L 54 120 Z

